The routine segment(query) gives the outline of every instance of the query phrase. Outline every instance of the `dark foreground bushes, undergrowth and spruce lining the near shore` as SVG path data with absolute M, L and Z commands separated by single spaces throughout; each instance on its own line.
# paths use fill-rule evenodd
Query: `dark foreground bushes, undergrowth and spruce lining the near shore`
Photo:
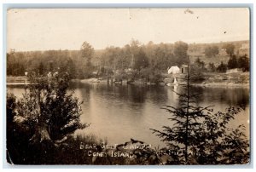
M 91 135 L 74 135 L 90 127 L 80 123 L 81 103 L 67 94 L 66 72 L 44 77 L 30 74 L 32 84 L 23 98 L 7 95 L 7 161 L 15 164 L 243 164 L 249 162 L 249 141 L 244 126 L 229 129 L 242 107 L 213 112 L 212 106 L 195 106 L 189 81 L 177 107 L 166 106 L 176 124 L 152 129 L 166 147 L 141 140 L 108 145 Z

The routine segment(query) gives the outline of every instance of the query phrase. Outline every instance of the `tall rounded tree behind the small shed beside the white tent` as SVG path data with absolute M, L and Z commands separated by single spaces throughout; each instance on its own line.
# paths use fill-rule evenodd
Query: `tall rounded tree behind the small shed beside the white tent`
M 188 62 L 187 61 L 187 51 L 189 49 L 189 45 L 188 43 L 184 43 L 182 41 L 178 41 L 176 43 L 174 43 L 174 55 L 177 58 L 177 62 L 178 64 L 183 64 L 184 62 Z

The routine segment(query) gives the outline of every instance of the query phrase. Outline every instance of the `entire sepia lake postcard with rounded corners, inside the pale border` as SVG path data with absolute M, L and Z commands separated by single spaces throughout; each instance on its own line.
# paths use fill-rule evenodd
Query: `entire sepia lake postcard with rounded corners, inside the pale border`
M 6 13 L 7 163 L 251 163 L 250 8 Z

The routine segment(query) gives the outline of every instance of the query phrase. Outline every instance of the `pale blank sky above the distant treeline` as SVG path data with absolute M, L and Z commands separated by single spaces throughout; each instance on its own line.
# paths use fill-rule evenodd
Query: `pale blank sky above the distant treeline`
M 249 40 L 249 9 L 9 9 L 7 50 Z

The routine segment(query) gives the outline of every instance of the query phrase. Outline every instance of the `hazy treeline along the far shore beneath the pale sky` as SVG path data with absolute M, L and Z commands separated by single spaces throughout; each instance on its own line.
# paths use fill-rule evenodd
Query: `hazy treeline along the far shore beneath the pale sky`
M 80 50 L 12 50 L 7 54 L 7 75 L 22 76 L 25 72 L 38 72 L 41 75 L 48 72 L 68 72 L 72 78 L 88 78 L 113 75 L 124 77 L 131 72 L 133 77 L 154 79 L 160 73 L 167 72 L 170 66 L 187 64 L 188 55 L 194 59 L 192 62 L 201 62 L 200 66 L 207 66 L 210 72 L 216 71 L 220 65 L 219 72 L 224 72 L 222 67 L 229 68 L 228 64 L 206 64 L 204 59 L 217 59 L 224 49 L 228 58 L 234 60 L 234 55 L 236 56 L 236 66 L 239 66 L 238 60 L 244 51 L 241 49 L 243 44 L 248 44 L 248 41 L 213 44 L 188 44 L 182 41 L 141 44 L 137 40 L 131 40 L 130 44 L 122 48 L 112 46 L 102 50 L 95 50 L 86 42 Z M 248 60 L 243 58 L 243 61 Z M 232 65 L 234 66 L 234 63 Z

